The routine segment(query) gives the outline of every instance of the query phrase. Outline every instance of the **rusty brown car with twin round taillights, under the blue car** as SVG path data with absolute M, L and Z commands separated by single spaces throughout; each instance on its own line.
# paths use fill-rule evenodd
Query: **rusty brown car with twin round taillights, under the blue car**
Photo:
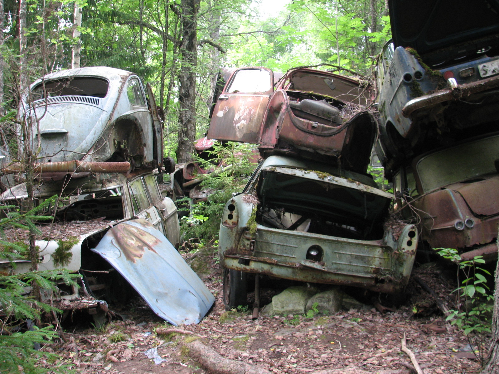
M 497 259 L 499 133 L 427 153 L 394 175 L 396 210 L 432 248 Z

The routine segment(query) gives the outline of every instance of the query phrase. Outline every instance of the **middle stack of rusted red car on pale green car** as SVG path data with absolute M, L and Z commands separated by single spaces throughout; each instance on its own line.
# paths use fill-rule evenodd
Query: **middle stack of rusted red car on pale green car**
M 257 145 L 260 163 L 225 206 L 219 254 L 227 308 L 247 303 L 256 275 L 382 292 L 402 289 L 418 231 L 385 225 L 392 195 L 367 174 L 376 121 L 362 82 L 307 68 L 274 84 L 265 68 L 236 70 L 208 137 Z

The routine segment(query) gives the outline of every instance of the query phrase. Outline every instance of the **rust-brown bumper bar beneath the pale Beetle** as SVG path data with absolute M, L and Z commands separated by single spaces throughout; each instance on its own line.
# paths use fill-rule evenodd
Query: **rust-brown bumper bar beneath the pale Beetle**
M 57 172 L 90 172 L 90 173 L 127 173 L 130 171 L 129 162 L 83 162 L 78 160 L 56 163 L 41 163 L 34 166 L 35 173 Z M 22 173 L 25 167 L 20 163 L 12 164 L 0 169 L 2 174 Z

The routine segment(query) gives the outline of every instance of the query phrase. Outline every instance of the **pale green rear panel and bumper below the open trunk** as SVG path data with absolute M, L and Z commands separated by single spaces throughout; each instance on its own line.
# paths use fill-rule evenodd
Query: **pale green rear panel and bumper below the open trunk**
M 414 226 L 411 228 L 415 230 Z M 254 251 L 227 250 L 224 266 L 302 282 L 394 292 L 404 288 L 409 280 L 416 245 L 404 250 L 390 247 L 382 240 L 353 240 L 257 225 Z M 313 246 L 323 251 L 319 262 L 306 258 Z M 240 258 L 249 261 L 243 265 Z

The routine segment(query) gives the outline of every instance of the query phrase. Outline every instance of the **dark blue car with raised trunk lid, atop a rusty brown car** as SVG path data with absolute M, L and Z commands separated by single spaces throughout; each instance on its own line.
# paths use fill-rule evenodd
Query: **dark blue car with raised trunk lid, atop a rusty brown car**
M 425 152 L 496 131 L 499 6 L 487 1 L 450 9 L 443 0 L 423 8 L 397 0 L 388 5 L 393 43 L 377 69 L 377 154 L 390 177 Z

